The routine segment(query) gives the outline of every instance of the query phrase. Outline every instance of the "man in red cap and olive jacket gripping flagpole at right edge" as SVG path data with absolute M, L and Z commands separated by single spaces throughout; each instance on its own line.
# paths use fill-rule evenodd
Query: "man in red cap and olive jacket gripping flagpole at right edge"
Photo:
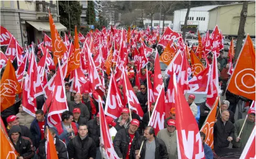
M 244 123 L 244 120 L 245 123 Z M 243 123 L 244 123 L 244 126 L 243 126 Z M 242 129 L 242 126 L 243 126 L 243 129 Z M 251 135 L 251 132 L 253 130 L 255 126 L 255 111 L 253 110 L 250 110 L 248 112 L 248 117 L 246 119 L 239 119 L 235 122 L 235 139 L 232 140 L 232 144 L 235 148 L 244 148 L 244 146 L 246 145 L 250 135 Z M 241 132 L 240 134 L 240 137 L 239 136 L 239 133 Z

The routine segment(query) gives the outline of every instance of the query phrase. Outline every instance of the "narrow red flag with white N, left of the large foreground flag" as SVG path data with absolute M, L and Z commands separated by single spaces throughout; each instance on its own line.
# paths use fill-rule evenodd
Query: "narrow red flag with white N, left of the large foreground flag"
M 164 84 L 162 84 L 149 120 L 149 126 L 154 128 L 155 135 L 164 128 L 164 96 Z

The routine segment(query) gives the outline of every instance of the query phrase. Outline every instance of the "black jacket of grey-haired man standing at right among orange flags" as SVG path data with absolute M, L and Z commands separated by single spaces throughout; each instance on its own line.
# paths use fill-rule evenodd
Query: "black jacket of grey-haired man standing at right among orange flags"
M 217 120 L 214 124 L 214 150 L 218 151 L 218 149 L 226 148 L 229 145 L 228 137 L 232 137 L 234 139 L 235 126 L 231 123 L 231 121 L 227 121 L 225 126 L 221 118 Z

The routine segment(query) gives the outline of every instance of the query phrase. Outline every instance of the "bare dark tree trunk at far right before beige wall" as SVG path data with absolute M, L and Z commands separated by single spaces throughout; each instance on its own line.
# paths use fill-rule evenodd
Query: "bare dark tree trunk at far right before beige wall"
M 243 42 L 243 35 L 244 32 L 244 25 L 246 24 L 246 17 L 247 17 L 247 8 L 248 8 L 248 1 L 243 2 L 243 7 L 240 14 L 240 23 L 237 33 L 237 46 L 236 46 L 236 52 L 235 52 L 235 59 L 238 58 L 238 55 L 242 48 L 242 42 Z

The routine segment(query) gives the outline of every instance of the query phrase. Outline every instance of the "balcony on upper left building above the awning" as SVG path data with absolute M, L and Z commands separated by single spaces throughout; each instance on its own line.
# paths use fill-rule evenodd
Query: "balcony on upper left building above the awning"
M 45 1 L 36 1 L 36 11 L 37 12 L 42 12 L 42 13 L 49 13 L 48 12 L 48 7 L 51 11 L 51 14 L 55 14 L 57 15 L 58 14 L 58 10 L 57 10 L 57 5 L 55 4 L 50 4 L 50 3 L 47 3 Z

